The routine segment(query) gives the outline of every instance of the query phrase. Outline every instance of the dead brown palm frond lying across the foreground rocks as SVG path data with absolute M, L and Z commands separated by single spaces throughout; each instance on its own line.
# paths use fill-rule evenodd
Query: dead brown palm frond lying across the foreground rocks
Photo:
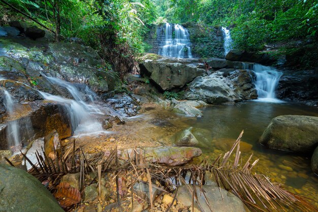
M 81 147 L 76 147 L 75 140 L 71 147 L 54 149 L 54 155 L 50 155 L 50 157 L 44 151 L 44 157 L 37 153 L 37 164 L 31 163 L 25 155 L 23 156 L 33 166 L 29 173 L 47 185 L 65 210 L 76 208 L 78 203 L 83 200 L 81 196 L 83 196 L 85 186 L 97 182 L 101 187 L 100 182 L 106 174 L 109 176 L 108 179 L 115 181 L 118 208 L 127 196 L 131 197 L 132 204 L 134 204 L 134 184 L 141 182 L 149 186 L 149 209 L 153 208 L 153 204 L 163 194 L 176 191 L 180 185 L 188 185 L 189 192 L 193 194 L 194 203 L 198 200 L 196 192 L 194 192 L 196 191 L 195 186 L 201 188 L 205 184 L 206 175 L 211 174 L 212 179 L 220 188 L 232 192 L 251 211 L 288 211 L 290 208 L 295 211 L 318 211 L 303 197 L 284 190 L 280 184 L 271 183 L 265 175 L 251 173 L 251 169 L 258 160 L 252 162 L 251 155 L 245 163 L 242 163 L 240 157 L 242 134 L 243 131 L 232 149 L 224 156 L 219 155 L 212 164 L 208 164 L 205 160 L 199 164 L 184 166 L 153 164 L 147 162 L 144 151 L 138 148 L 131 153 L 124 154 L 126 157 L 119 154 L 117 149 L 88 156 L 84 154 Z M 80 172 L 79 190 L 67 184 L 60 184 L 63 175 L 77 172 Z M 96 177 L 87 183 L 85 176 L 91 172 Z M 152 196 L 153 188 L 159 189 L 163 193 L 156 197 Z M 202 192 L 204 194 L 203 190 Z M 175 201 L 176 195 L 174 194 L 173 202 L 166 211 L 169 211 Z M 197 203 L 200 206 L 198 201 Z M 209 205 L 209 202 L 207 204 Z

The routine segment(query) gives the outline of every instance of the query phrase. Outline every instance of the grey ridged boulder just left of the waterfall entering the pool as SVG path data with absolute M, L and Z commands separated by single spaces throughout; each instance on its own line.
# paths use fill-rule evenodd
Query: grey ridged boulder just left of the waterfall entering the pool
M 197 77 L 188 85 L 185 98 L 220 104 L 255 99 L 257 92 L 252 84 L 252 72 L 220 69 L 209 76 Z

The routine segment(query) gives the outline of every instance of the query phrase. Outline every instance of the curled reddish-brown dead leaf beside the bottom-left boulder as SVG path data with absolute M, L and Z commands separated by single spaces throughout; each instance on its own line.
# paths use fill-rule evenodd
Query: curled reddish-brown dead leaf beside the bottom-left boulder
M 69 183 L 60 183 L 56 189 L 54 196 L 63 208 L 81 201 L 81 193 L 78 189 L 71 187 Z

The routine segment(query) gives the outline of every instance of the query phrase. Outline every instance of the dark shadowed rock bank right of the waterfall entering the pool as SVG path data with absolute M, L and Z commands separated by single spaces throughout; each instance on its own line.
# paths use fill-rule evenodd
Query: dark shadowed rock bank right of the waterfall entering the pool
M 298 101 L 308 105 L 318 105 L 318 72 L 317 70 L 282 69 L 276 91 L 280 99 Z

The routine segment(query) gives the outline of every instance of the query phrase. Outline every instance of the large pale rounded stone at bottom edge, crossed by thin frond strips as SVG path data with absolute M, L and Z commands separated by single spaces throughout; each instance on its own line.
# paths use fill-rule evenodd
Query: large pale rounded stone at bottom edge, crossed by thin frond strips
M 206 203 L 206 199 L 211 205 L 212 211 L 218 212 L 228 212 L 228 211 L 236 211 L 236 212 L 245 212 L 244 203 L 236 197 L 234 194 L 230 193 L 225 189 L 220 189 L 216 186 L 202 186 L 202 190 L 205 191 L 205 195 L 200 191 L 200 187 L 196 186 L 196 193 L 198 196 L 199 203 L 203 209 L 203 211 L 211 211 L 208 204 Z M 206 196 L 206 199 L 205 199 Z M 223 197 L 223 199 L 222 199 Z M 177 191 L 177 200 L 184 206 L 192 206 L 192 192 L 189 192 L 188 186 L 180 186 Z M 199 211 L 200 207 L 197 202 L 194 205 Z

